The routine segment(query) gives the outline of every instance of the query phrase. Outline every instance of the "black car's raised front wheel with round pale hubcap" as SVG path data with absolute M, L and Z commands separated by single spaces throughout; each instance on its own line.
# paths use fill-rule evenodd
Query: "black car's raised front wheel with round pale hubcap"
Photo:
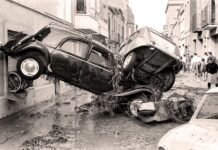
M 27 54 L 17 62 L 17 72 L 26 80 L 39 78 L 43 70 L 43 58 L 39 55 Z

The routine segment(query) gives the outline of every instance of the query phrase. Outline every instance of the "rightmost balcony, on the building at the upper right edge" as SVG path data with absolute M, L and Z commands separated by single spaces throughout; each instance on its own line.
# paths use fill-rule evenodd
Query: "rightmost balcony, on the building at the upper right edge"
M 201 11 L 201 25 L 204 30 L 212 30 L 217 27 L 215 24 L 215 12 L 211 5 L 207 5 Z

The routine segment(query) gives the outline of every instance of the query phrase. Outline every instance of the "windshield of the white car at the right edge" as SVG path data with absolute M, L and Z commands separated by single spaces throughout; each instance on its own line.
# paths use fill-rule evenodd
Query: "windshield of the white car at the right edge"
M 218 119 L 218 94 L 208 94 L 205 98 L 197 119 Z

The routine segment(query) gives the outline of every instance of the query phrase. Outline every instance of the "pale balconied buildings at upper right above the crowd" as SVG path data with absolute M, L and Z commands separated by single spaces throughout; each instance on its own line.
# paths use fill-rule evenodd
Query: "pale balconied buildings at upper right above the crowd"
M 217 25 L 216 0 L 185 0 L 173 28 L 168 28 L 166 33 L 177 43 L 182 54 L 203 56 L 204 52 L 211 51 L 218 57 Z

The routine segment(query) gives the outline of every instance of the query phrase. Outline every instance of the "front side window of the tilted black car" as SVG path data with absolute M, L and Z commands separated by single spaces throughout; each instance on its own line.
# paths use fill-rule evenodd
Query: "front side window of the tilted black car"
M 67 40 L 61 45 L 60 49 L 78 57 L 85 58 L 88 51 L 88 44 L 76 40 Z

